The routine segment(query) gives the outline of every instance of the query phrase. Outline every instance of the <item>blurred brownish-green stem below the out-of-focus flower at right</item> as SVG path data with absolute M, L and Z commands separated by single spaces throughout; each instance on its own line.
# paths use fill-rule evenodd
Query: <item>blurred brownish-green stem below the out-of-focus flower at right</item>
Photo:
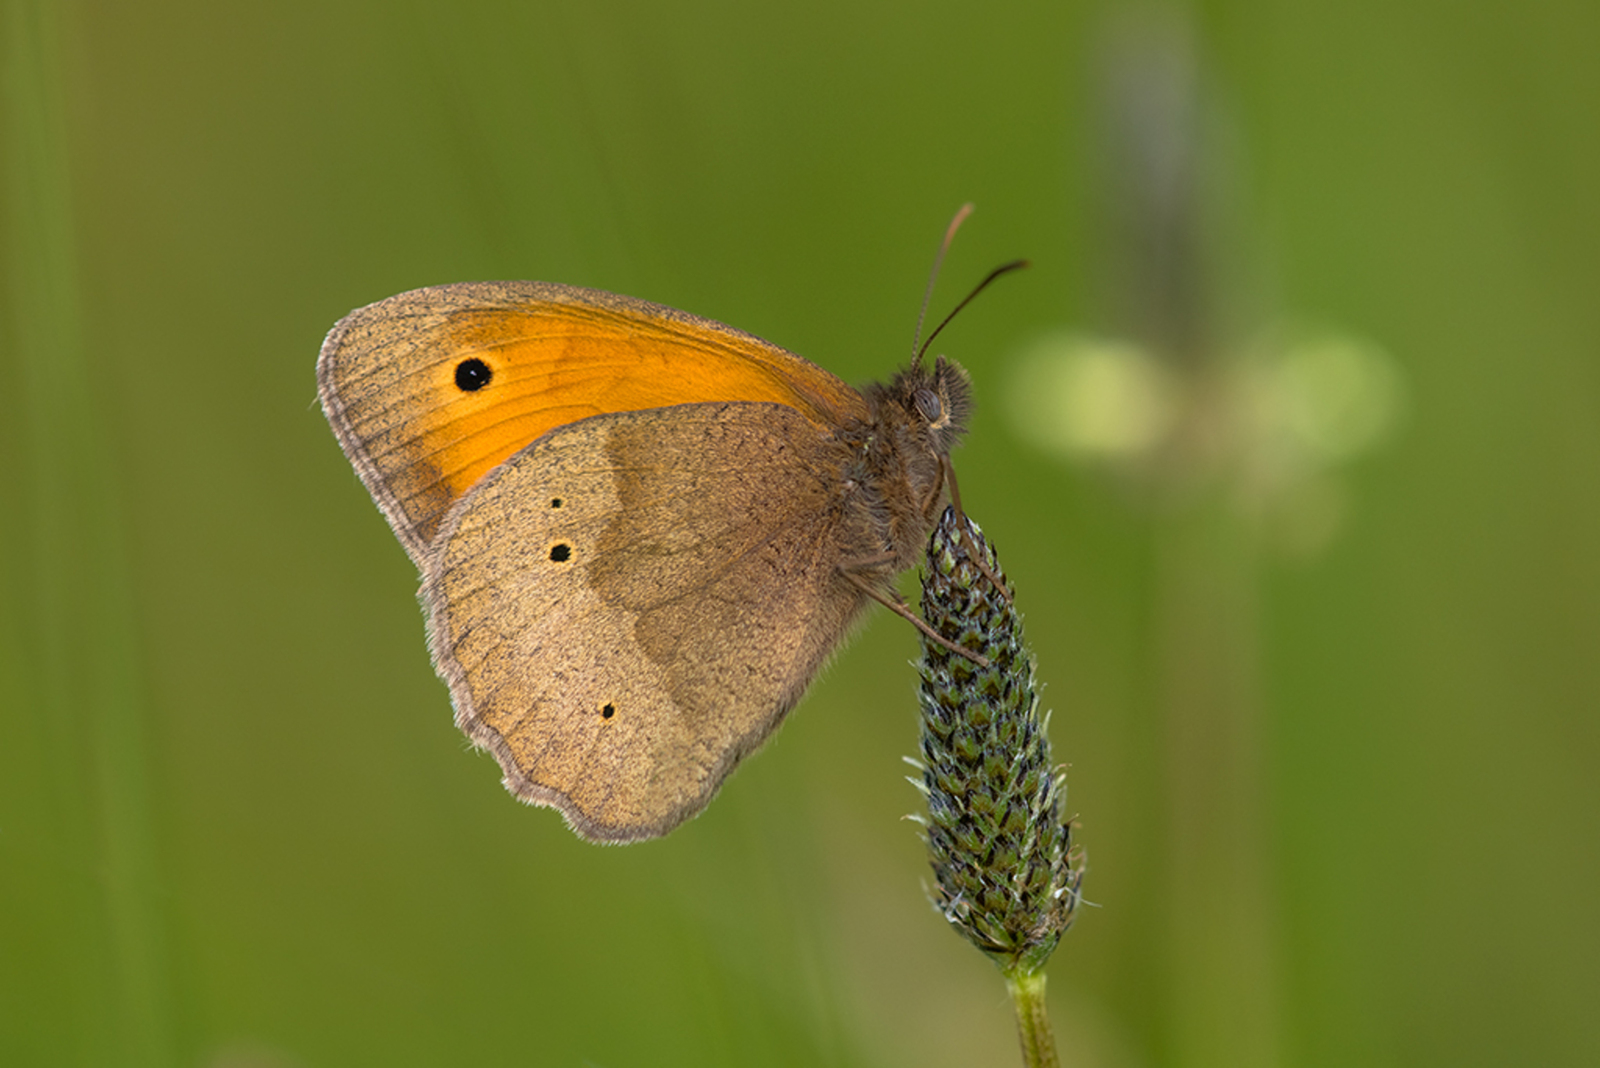
M 1254 536 L 1213 494 L 1166 518 L 1157 544 L 1163 883 L 1181 887 L 1166 900 L 1173 1063 L 1270 1068 L 1282 1052 Z

